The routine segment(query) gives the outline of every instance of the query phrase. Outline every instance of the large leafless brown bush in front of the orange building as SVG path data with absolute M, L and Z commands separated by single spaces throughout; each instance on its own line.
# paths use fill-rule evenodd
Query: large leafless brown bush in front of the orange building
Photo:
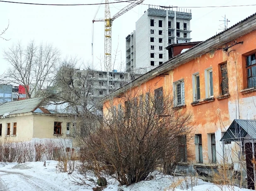
M 125 107 L 110 104 L 101 125 L 87 120 L 92 123 L 83 126 L 86 134 L 81 132 L 86 136 L 77 137 L 86 169 L 97 178 L 107 173 L 121 185 L 130 185 L 146 180 L 164 164 L 181 161 L 180 140 L 190 134 L 191 114 L 173 109 L 174 100 L 161 91 L 149 90 L 144 96 L 135 92 L 122 99 Z

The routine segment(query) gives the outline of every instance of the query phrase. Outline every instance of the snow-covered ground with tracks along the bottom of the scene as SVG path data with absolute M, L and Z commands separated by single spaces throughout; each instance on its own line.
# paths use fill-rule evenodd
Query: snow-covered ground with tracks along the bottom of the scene
M 72 183 L 72 175 L 68 173 L 59 173 L 56 170 L 57 162 L 54 160 L 46 161 L 46 167 L 42 162 L 32 163 L 0 163 L 0 191 L 92 191 L 96 187 L 88 181 L 91 186 L 77 186 Z M 96 181 L 96 179 L 94 178 Z M 156 180 L 143 181 L 132 186 L 118 186 L 118 182 L 107 179 L 109 184 L 104 191 L 249 191 L 248 189 L 225 188 L 220 189 L 214 184 L 203 182 L 197 179 L 197 186 L 191 188 L 191 182 L 188 182 L 189 189 L 186 189 L 185 181 L 182 177 L 162 177 Z M 181 182 L 176 189 L 174 184 Z M 170 187 L 171 186 L 171 187 Z M 118 190 L 119 188 L 119 190 Z

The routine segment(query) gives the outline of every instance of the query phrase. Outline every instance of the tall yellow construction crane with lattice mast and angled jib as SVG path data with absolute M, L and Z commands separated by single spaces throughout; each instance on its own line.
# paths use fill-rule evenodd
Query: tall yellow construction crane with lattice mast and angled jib
M 144 0 L 134 0 L 131 4 L 128 6 L 124 7 L 116 13 L 112 18 L 110 16 L 110 9 L 109 9 L 109 0 L 105 0 L 105 19 L 100 19 L 100 20 L 92 20 L 92 23 L 96 21 L 104 21 L 105 22 L 105 52 L 104 52 L 104 69 L 105 71 L 111 71 L 111 27 L 113 21 L 120 17 L 122 14 L 128 12 L 130 9 L 135 7 L 136 5 L 139 5 L 142 3 Z

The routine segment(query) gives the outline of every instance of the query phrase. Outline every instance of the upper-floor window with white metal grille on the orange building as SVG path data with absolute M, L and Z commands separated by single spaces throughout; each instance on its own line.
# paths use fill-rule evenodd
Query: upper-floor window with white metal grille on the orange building
M 174 106 L 185 104 L 184 80 L 174 83 Z

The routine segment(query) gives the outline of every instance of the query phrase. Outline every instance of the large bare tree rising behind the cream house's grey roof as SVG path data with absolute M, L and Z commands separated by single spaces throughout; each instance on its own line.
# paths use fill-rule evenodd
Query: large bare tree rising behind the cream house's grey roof
M 59 50 L 52 45 L 37 46 L 31 41 L 24 47 L 18 42 L 4 50 L 4 58 L 10 64 L 4 76 L 5 80 L 23 85 L 28 98 L 39 97 L 41 89 L 53 83 L 56 75 L 54 66 L 59 57 Z

